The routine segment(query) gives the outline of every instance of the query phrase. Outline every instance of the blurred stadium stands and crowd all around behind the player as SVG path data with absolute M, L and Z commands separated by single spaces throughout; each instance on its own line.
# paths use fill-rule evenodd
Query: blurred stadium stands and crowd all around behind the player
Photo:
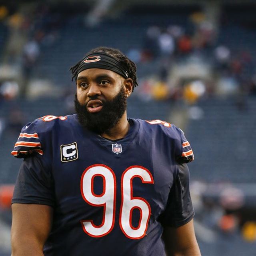
M 128 115 L 184 130 L 203 256 L 256 255 L 256 3 L 250 0 L 2 1 L 0 256 L 10 255 L 10 198 L 26 123 L 74 113 L 68 71 L 97 46 L 138 69 Z

